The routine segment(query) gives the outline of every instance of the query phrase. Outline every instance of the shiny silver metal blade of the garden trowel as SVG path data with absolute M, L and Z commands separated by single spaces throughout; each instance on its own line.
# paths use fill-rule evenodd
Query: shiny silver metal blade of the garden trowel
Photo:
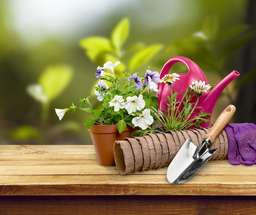
M 167 169 L 167 179 L 171 184 L 181 184 L 195 175 L 218 150 L 205 148 L 200 157 L 194 156 L 200 146 L 195 146 L 189 139 L 173 158 Z

